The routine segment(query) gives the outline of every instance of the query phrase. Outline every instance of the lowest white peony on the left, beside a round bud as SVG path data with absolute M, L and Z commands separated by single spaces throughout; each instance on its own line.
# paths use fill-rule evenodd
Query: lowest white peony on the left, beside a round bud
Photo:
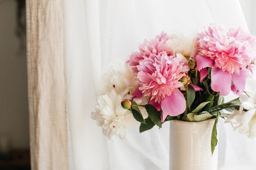
M 111 90 L 109 94 L 97 98 L 96 112 L 92 112 L 91 117 L 93 120 L 97 120 L 99 126 L 102 126 L 103 134 L 109 139 L 113 135 L 123 139 L 126 137 L 126 128 L 139 124 L 129 110 L 121 107 L 121 101 L 130 98 L 130 95 L 127 94 L 128 89 L 119 94 L 115 90 Z

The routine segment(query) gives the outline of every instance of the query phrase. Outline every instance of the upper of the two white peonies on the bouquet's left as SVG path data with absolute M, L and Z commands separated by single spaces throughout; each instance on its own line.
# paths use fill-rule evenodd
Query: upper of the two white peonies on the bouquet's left
M 103 70 L 101 75 L 102 94 L 110 93 L 112 90 L 120 93 L 124 89 L 129 89 L 130 92 L 137 87 L 136 75 L 131 68 L 124 63 L 110 63 L 108 68 Z

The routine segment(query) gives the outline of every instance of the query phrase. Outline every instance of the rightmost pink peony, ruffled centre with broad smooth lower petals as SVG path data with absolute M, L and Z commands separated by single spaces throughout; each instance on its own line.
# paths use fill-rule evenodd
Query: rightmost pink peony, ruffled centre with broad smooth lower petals
M 245 79 L 252 76 L 247 69 L 256 56 L 256 38 L 242 28 L 231 28 L 225 32 L 222 26 L 211 24 L 198 34 L 198 55 L 195 60 L 200 71 L 200 81 L 211 70 L 211 88 L 226 96 L 231 90 L 242 91 Z

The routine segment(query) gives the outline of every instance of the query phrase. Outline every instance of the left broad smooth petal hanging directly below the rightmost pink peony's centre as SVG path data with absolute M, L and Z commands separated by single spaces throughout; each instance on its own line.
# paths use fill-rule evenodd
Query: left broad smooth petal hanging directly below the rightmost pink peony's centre
M 223 72 L 219 68 L 211 69 L 211 89 L 220 92 L 221 96 L 227 96 L 231 90 L 231 74 Z

